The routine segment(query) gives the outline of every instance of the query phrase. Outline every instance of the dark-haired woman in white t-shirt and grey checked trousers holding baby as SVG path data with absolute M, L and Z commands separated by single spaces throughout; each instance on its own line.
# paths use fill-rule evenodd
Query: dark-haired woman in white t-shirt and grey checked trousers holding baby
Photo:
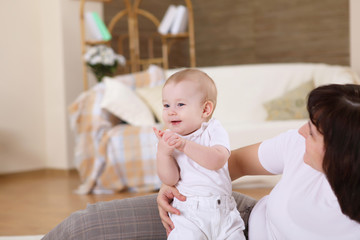
M 234 193 L 250 239 L 360 239 L 360 86 L 328 85 L 308 99 L 309 123 L 273 139 L 234 150 L 232 179 L 282 174 L 259 202 Z M 164 239 L 179 213 L 163 186 L 156 196 L 90 205 L 44 239 Z M 247 221 L 249 220 L 249 221 Z

